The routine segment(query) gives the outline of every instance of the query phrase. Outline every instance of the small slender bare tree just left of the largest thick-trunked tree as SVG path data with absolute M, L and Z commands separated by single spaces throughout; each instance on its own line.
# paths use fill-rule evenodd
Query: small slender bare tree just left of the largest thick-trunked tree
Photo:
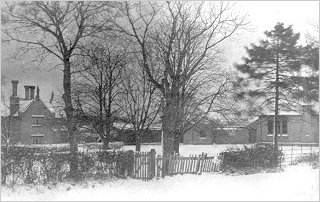
M 136 151 L 141 148 L 141 136 L 154 123 L 159 109 L 160 96 L 148 81 L 144 69 L 132 63 L 122 77 L 121 106 L 123 117 L 132 125 L 135 134 Z

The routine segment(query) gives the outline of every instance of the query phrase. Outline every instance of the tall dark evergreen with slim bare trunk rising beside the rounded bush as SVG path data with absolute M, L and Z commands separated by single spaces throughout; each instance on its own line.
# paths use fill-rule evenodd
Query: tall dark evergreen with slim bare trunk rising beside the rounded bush
M 299 33 L 292 26 L 277 23 L 264 32 L 266 39 L 258 45 L 246 47 L 248 57 L 243 64 L 235 64 L 242 74 L 238 76 L 239 98 L 260 101 L 259 107 L 274 107 L 274 145 L 277 148 L 279 111 L 293 105 L 291 90 L 296 84 L 292 77 L 301 69 L 301 47 L 297 45 Z

